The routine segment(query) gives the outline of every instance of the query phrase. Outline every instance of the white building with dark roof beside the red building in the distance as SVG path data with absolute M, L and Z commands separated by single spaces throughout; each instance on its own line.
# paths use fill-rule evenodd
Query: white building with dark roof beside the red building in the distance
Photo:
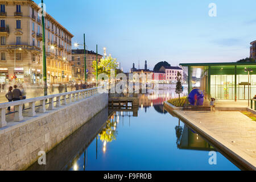
M 159 69 L 160 72 L 166 73 L 166 82 L 173 83 L 177 81 L 177 73 L 180 72 L 183 80 L 184 80 L 184 73 L 183 69 L 180 67 L 170 67 L 170 66 L 162 66 Z

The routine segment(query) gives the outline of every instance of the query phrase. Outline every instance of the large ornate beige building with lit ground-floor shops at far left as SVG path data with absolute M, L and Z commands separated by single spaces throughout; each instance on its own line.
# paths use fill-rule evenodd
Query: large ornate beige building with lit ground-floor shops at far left
M 0 82 L 42 84 L 42 17 L 31 0 L 0 0 Z M 47 82 L 72 77 L 73 35 L 51 15 L 45 17 Z

